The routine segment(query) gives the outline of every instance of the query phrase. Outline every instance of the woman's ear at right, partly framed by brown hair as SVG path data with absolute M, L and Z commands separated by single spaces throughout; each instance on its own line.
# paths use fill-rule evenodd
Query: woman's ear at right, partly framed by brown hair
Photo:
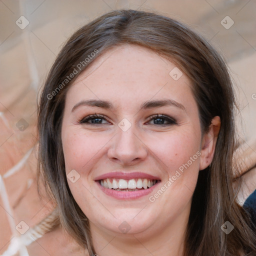
M 214 116 L 211 119 L 209 130 L 203 134 L 201 141 L 201 155 L 200 155 L 200 167 L 199 170 L 205 169 L 210 165 L 213 154 L 215 151 L 215 145 L 217 142 L 218 132 L 220 129 L 220 117 Z

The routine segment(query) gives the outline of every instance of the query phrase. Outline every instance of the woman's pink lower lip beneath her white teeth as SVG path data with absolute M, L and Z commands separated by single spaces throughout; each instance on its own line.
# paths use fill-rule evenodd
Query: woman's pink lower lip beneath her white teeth
M 137 199 L 152 192 L 159 184 L 159 182 L 157 182 L 147 189 L 141 189 L 137 191 L 117 191 L 114 189 L 105 188 L 104 186 L 101 186 L 99 182 L 96 183 L 105 194 L 117 199 Z

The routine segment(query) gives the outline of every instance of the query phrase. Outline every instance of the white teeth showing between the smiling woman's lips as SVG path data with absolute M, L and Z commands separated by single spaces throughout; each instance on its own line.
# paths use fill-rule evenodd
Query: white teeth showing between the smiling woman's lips
M 148 189 L 155 185 L 160 180 L 148 178 L 132 178 L 132 179 L 119 179 L 119 178 L 105 178 L 100 179 L 101 186 L 116 190 L 116 191 L 137 191 Z

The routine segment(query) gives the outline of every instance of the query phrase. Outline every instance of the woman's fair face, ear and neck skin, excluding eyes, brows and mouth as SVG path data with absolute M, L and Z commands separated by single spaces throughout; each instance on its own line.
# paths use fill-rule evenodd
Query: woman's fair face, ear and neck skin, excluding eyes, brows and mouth
M 154 51 L 137 45 L 115 46 L 98 57 L 77 77 L 66 94 L 61 138 L 66 173 L 75 169 L 80 178 L 71 193 L 89 219 L 96 253 L 106 255 L 182 255 L 184 233 L 198 172 L 212 160 L 220 120 L 216 116 L 208 133 L 201 134 L 198 109 L 190 81 L 183 73 L 174 80 L 176 65 Z M 110 101 L 114 108 L 80 105 L 81 100 Z M 147 100 L 172 99 L 173 105 L 140 109 Z M 102 123 L 80 123 L 90 114 L 103 114 Z M 176 123 L 148 120 L 164 114 Z M 127 131 L 118 127 L 126 118 Z M 95 119 L 94 119 L 95 120 Z M 162 119 L 161 119 L 162 120 Z M 196 152 L 201 155 L 157 198 L 151 194 L 120 200 L 103 193 L 94 178 L 122 170 L 141 171 L 161 179 L 158 189 Z M 130 230 L 118 226 L 126 221 Z

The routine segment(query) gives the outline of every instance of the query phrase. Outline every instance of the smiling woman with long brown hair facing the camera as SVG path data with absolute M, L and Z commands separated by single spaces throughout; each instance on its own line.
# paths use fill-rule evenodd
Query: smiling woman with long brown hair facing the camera
M 80 28 L 38 115 L 61 225 L 89 255 L 255 255 L 232 188 L 233 104 L 221 57 L 173 19 L 120 10 Z

